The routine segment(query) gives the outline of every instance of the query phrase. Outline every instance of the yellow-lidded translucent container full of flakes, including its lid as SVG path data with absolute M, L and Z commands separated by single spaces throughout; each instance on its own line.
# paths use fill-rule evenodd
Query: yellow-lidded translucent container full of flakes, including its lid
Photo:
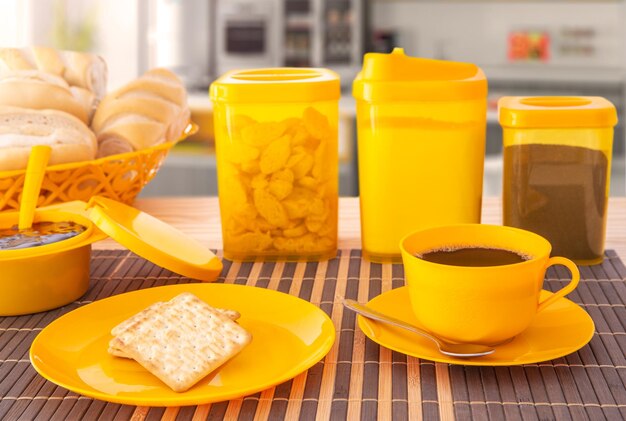
M 224 257 L 334 257 L 339 77 L 326 69 L 232 71 L 210 95 Z

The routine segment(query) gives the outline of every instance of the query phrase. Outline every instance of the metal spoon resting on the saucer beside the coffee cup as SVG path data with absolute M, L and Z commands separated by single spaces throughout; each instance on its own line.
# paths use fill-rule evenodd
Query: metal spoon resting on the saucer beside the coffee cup
M 377 320 L 379 322 L 394 325 L 402 329 L 410 330 L 413 333 L 417 333 L 418 335 L 428 338 L 437 344 L 439 352 L 445 355 L 450 355 L 451 357 L 482 357 L 483 355 L 492 354 L 495 351 L 494 348 L 486 345 L 448 343 L 424 330 L 403 322 L 402 320 L 394 319 L 393 317 L 379 313 L 376 310 L 372 310 L 371 308 L 366 307 L 363 304 L 360 304 L 348 298 L 344 298 L 343 305 L 346 306 L 346 308 L 349 308 L 350 310 L 360 314 L 361 316 L 367 317 L 368 319 Z

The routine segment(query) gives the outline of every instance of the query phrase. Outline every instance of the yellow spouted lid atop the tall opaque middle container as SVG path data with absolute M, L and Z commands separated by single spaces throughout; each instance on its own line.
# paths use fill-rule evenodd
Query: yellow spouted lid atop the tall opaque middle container
M 410 57 L 402 48 L 367 53 L 352 95 L 365 101 L 454 101 L 487 97 L 487 79 L 471 63 Z

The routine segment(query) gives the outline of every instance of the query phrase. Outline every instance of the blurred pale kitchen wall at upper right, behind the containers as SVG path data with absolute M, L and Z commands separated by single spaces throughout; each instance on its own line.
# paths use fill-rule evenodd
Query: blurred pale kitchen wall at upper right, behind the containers
M 595 53 L 589 58 L 554 55 L 549 65 L 626 68 L 626 7 L 622 1 L 460 2 L 373 0 L 374 28 L 395 29 L 408 54 L 507 65 L 507 35 L 514 29 L 551 32 L 591 27 Z

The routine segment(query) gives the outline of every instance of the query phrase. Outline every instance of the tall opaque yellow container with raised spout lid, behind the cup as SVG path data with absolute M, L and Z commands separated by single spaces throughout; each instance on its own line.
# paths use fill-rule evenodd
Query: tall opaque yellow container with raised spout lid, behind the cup
M 373 261 L 400 261 L 400 239 L 480 222 L 487 80 L 469 63 L 365 55 L 357 100 L 361 239 Z

